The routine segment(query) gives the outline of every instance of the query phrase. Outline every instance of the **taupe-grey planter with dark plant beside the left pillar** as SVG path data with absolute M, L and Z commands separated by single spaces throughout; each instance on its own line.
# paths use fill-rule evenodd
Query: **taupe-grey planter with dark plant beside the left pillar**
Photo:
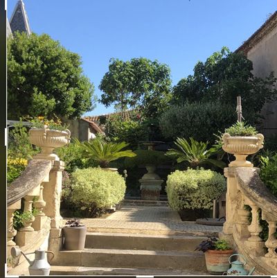
M 86 241 L 87 227 L 80 223 L 78 219 L 70 219 L 62 228 L 64 234 L 64 249 L 83 250 Z

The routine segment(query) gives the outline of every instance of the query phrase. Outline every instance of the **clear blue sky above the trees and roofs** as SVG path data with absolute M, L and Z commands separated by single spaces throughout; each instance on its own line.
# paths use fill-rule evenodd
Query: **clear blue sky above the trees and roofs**
M 8 19 L 17 0 L 7 0 Z M 222 46 L 235 51 L 276 11 L 277 0 L 24 0 L 30 28 L 82 57 L 96 87 L 109 59 L 168 64 L 172 85 Z M 113 112 L 100 103 L 86 115 Z

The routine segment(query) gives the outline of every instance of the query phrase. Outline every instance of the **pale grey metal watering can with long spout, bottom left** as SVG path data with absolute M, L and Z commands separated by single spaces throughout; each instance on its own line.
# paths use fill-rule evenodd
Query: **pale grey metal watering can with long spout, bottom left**
M 45 251 L 39 248 L 38 250 L 35 250 L 35 252 L 24 254 L 24 252 L 22 252 L 19 248 L 12 247 L 10 252 L 12 254 L 12 257 L 17 257 L 20 254 L 23 254 L 23 256 L 30 264 L 30 266 L 28 267 L 30 275 L 49 275 L 50 265 L 46 259 L 45 253 L 51 253 L 53 255 L 53 257 L 51 258 L 52 260 L 54 258 L 54 253 L 52 251 Z M 30 259 L 28 259 L 26 255 L 34 254 L 34 253 L 35 253 L 35 260 L 30 261 Z

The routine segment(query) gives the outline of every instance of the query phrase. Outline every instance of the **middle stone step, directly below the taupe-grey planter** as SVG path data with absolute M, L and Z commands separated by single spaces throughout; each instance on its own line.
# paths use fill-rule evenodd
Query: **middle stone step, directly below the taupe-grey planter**
M 206 270 L 203 252 L 87 249 L 60 251 L 58 266 Z

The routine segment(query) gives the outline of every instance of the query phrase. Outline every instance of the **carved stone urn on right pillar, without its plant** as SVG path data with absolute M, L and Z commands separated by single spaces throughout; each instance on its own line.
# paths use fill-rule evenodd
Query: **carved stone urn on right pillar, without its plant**
M 231 136 L 224 133 L 222 136 L 223 150 L 235 156 L 235 160 L 229 164 L 230 167 L 253 167 L 253 164 L 247 161 L 247 155 L 253 155 L 263 148 L 264 136 L 256 134 L 254 136 Z

